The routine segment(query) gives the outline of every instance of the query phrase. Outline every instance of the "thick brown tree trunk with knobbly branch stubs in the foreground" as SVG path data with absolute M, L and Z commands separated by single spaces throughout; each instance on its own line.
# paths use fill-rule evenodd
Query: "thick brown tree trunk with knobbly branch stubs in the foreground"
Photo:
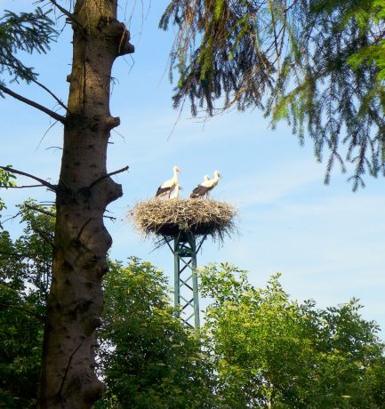
M 101 279 L 112 240 L 106 206 L 122 196 L 106 170 L 111 68 L 133 52 L 116 20 L 117 0 L 77 0 L 72 15 L 73 63 L 60 180 L 52 287 L 44 333 L 41 408 L 89 408 L 102 383 L 94 371 L 94 331 L 103 305 Z

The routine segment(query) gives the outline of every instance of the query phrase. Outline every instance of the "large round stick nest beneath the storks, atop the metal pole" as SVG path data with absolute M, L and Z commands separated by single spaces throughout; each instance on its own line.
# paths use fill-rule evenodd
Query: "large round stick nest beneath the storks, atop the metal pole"
M 172 239 L 183 231 L 220 240 L 236 229 L 237 210 L 226 202 L 205 199 L 150 199 L 130 213 L 140 233 Z M 161 238 L 160 241 L 163 241 Z

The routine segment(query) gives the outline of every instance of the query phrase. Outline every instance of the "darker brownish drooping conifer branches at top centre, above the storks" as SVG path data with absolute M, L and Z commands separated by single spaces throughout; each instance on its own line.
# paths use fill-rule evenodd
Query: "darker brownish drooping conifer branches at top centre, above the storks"
M 197 107 L 213 114 L 214 101 L 223 97 L 225 108 L 262 108 L 279 67 L 290 7 L 285 0 L 172 0 L 160 28 L 170 21 L 179 28 L 171 52 L 171 68 L 179 74 L 174 107 L 187 97 L 194 116 Z

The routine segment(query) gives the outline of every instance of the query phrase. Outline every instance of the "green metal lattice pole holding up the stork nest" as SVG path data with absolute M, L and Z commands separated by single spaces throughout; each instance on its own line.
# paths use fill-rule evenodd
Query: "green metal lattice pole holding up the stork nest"
M 199 294 L 197 281 L 197 252 L 205 237 L 197 245 L 196 236 L 180 230 L 174 237 L 174 306 L 182 321 L 196 329 L 199 328 Z

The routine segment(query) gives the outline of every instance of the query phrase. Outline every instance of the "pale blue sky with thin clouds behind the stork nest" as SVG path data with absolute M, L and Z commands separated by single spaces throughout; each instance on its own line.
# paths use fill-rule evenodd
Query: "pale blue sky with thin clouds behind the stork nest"
M 15 10 L 20 3 L 32 4 L 2 0 L 1 5 Z M 174 164 L 183 172 L 184 195 L 206 173 L 219 170 L 224 179 L 213 198 L 237 206 L 239 233 L 223 246 L 206 243 L 198 256 L 199 265 L 229 261 L 249 270 L 257 286 L 282 271 L 285 290 L 293 298 L 314 299 L 319 307 L 326 307 L 354 296 L 365 305 L 363 316 L 385 328 L 385 180 L 366 179 L 366 188 L 352 193 L 347 176 L 336 168 L 331 184 L 325 186 L 325 164 L 316 163 L 311 141 L 301 148 L 285 124 L 272 131 L 257 110 L 232 111 L 205 120 L 203 115 L 191 118 L 186 109 L 174 127 L 179 115 L 172 109 L 172 84 L 167 75 L 172 32 L 157 29 L 165 5 L 157 3 L 151 5 L 148 15 L 145 12 L 143 23 L 140 11 L 133 16 L 136 52 L 117 60 L 114 68 L 117 81 L 111 113 L 120 116 L 116 131 L 123 136 L 113 134 L 108 171 L 126 164 L 130 171 L 116 176 L 124 196 L 109 207 L 117 218 L 113 224 L 108 222 L 114 240 L 111 256 L 124 260 L 135 255 L 172 273 L 170 251 L 154 251 L 151 241 L 141 240 L 126 213 L 138 201 L 154 196 L 159 184 L 172 176 Z M 69 38 L 67 29 L 52 44 L 52 52 L 28 57 L 40 81 L 64 101 L 71 62 Z M 12 85 L 12 89 L 54 108 L 49 95 L 33 86 Z M 12 164 L 55 182 L 60 150 L 50 147 L 61 145 L 60 125 L 44 136 L 50 118 L 11 98 L 0 104 L 0 164 Z M 6 190 L 2 196 L 9 214 L 13 205 L 28 196 L 52 200 L 44 189 Z M 20 233 L 17 221 L 6 228 L 14 237 Z

